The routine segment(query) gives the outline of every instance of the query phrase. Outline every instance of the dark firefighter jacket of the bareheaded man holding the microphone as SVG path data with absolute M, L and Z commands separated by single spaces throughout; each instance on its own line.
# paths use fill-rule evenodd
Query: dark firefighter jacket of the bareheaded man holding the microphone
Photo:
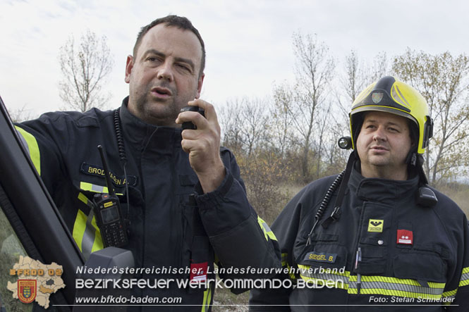
M 181 149 L 181 129 L 143 123 L 128 112 L 127 103 L 128 98 L 124 99 L 119 115 L 130 205 L 126 202 L 126 181 L 112 111 L 93 108 L 86 113 L 47 113 L 17 126 L 32 162 L 83 254 L 89 256 L 103 248 L 90 208 L 93 194 L 107 192 L 97 149 L 101 144 L 116 193 L 122 194 L 119 198 L 123 215 L 130 220 L 129 243 L 123 248 L 133 252 L 136 268 L 158 270 L 137 278 L 187 280 L 190 274 L 181 273 L 178 268 L 191 264 L 200 268 L 199 264 L 206 262 L 214 272 L 214 255 L 224 268 L 280 267 L 278 244 L 248 203 L 231 151 L 220 150 L 226 167 L 224 181 L 214 192 L 203 194 L 188 154 Z M 189 201 L 193 193 L 196 205 Z M 173 282 L 170 286 L 169 290 L 147 287 L 138 295 L 181 297 L 180 304 L 202 305 L 202 311 L 208 311 L 214 285 L 181 289 Z M 166 306 L 166 309 L 201 311 L 200 306 L 184 306 L 179 310 L 177 306 Z

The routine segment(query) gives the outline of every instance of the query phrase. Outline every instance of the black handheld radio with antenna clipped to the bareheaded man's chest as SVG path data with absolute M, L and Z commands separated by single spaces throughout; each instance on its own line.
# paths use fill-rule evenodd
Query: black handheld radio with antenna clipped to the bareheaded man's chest
M 103 147 L 98 145 L 98 149 L 99 154 L 101 154 L 104 177 L 106 178 L 109 194 L 99 193 L 93 197 L 96 222 L 101 232 L 104 247 L 121 247 L 128 243 L 126 223 L 122 216 L 121 204 L 114 192 L 114 187 L 109 177 L 109 169 L 107 168 Z

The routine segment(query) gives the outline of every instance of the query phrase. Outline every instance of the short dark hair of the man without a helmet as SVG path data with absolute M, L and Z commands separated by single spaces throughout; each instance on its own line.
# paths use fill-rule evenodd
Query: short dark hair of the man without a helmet
M 178 27 L 181 30 L 190 30 L 193 32 L 196 36 L 197 39 L 199 39 L 200 45 L 202 46 L 202 60 L 200 61 L 200 73 L 199 76 L 202 75 L 205 69 L 205 44 L 204 40 L 202 40 L 202 36 L 200 36 L 199 31 L 197 28 L 195 28 L 192 23 L 190 23 L 190 20 L 188 18 L 185 18 L 183 16 L 178 16 L 178 15 L 168 15 L 165 16 L 164 18 L 157 18 L 156 20 L 152 21 L 152 23 L 143 26 L 140 32 L 138 33 L 137 36 L 137 41 L 135 42 L 135 46 L 133 46 L 133 56 L 137 55 L 137 50 L 138 47 L 140 46 L 140 43 L 142 42 L 143 36 L 154 26 L 158 24 L 165 24 L 166 27 Z

